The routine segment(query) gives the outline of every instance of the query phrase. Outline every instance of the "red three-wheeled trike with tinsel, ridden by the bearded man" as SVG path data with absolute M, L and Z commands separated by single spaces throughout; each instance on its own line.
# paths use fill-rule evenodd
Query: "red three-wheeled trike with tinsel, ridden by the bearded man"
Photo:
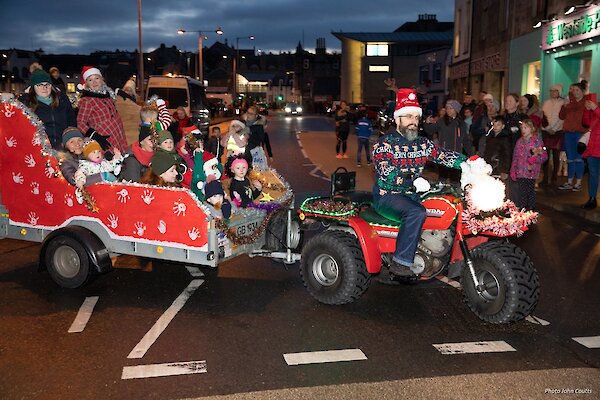
M 379 215 L 370 205 L 371 194 L 353 188 L 353 176 L 348 179 L 336 171 L 331 197 L 308 198 L 298 211 L 301 220 L 324 228 L 304 246 L 300 272 L 310 294 L 325 304 L 353 302 L 378 274 L 384 283 L 395 279 L 387 267 L 402 222 Z M 494 229 L 493 224 L 482 229 L 469 219 L 466 200 L 452 186 L 440 184 L 422 194 L 421 201 L 427 219 L 415 256 L 414 280 L 432 279 L 447 269 L 449 278 L 460 276 L 466 303 L 483 321 L 510 323 L 529 315 L 539 298 L 537 272 L 525 251 L 503 238 L 527 230 L 535 213 L 524 215 L 510 203 L 512 213 L 500 218 L 510 219 L 512 230 Z M 483 223 L 485 218 L 499 217 L 478 218 Z M 521 223 L 512 224 L 515 220 Z

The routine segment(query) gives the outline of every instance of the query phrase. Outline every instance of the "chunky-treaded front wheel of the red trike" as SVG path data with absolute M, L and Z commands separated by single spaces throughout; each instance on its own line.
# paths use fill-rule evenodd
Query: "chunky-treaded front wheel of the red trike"
M 520 321 L 537 305 L 540 285 L 529 256 L 518 246 L 488 242 L 471 250 L 475 277 L 469 268 L 462 272 L 465 301 L 475 315 L 493 324 Z

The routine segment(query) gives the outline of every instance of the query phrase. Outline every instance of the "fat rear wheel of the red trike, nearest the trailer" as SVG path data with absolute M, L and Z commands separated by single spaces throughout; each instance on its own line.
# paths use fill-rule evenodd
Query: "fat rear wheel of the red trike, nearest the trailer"
M 371 281 L 356 237 L 335 230 L 314 236 L 304 246 L 300 275 L 308 292 L 325 304 L 351 303 Z

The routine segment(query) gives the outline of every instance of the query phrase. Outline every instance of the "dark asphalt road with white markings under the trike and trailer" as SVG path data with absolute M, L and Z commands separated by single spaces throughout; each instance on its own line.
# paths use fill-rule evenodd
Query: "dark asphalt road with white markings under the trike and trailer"
M 274 166 L 299 199 L 326 192 L 328 182 L 298 137 L 332 128 L 327 118 L 270 117 Z M 325 306 L 304 289 L 297 266 L 261 258 L 231 260 L 204 276 L 167 263 L 116 269 L 66 290 L 37 271 L 39 245 L 0 240 L 0 398 L 600 398 L 598 236 L 555 213 L 512 241 L 536 265 L 541 298 L 535 321 L 498 326 L 477 319 L 462 292 L 439 280 L 373 282 L 357 302 Z M 68 333 L 96 296 L 83 331 Z M 573 339 L 580 337 L 596 348 Z M 434 347 L 488 341 L 498 351 Z M 332 350 L 364 359 L 284 358 Z M 132 352 L 143 355 L 128 358 Z M 188 372 L 126 379 L 155 364 Z

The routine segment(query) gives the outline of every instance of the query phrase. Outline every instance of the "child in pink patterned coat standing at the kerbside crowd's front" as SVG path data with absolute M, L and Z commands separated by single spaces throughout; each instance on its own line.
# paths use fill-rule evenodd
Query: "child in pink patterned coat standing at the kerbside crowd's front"
M 516 205 L 520 209 L 535 209 L 535 181 L 543 163 L 548 159 L 544 142 L 533 121 L 526 119 L 521 123 L 521 137 L 515 144 L 510 177 L 517 182 L 518 198 Z

